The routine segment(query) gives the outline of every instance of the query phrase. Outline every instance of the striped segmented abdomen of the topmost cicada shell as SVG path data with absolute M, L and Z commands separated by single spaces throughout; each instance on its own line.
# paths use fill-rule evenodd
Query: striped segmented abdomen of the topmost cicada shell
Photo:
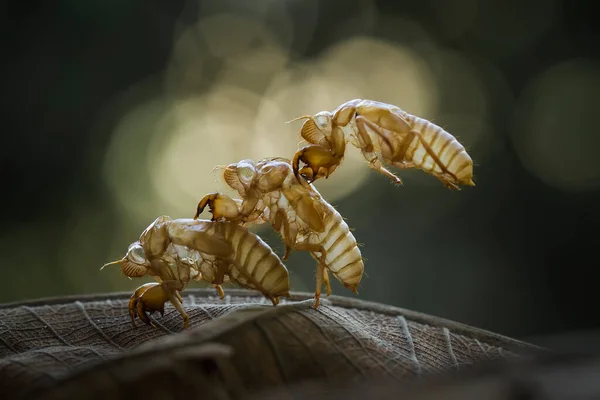
M 433 174 L 450 174 L 457 182 L 469 184 L 473 177 L 473 160 L 454 136 L 426 119 L 407 114 L 412 129 L 420 133 L 412 138 L 404 159 L 415 167 Z

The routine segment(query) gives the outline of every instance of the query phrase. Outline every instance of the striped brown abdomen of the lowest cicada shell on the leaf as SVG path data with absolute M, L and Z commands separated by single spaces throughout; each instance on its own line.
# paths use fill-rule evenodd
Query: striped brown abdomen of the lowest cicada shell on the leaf
M 289 295 L 288 270 L 271 247 L 244 227 L 229 222 L 221 224 L 234 250 L 229 276 L 241 285 L 273 297 Z

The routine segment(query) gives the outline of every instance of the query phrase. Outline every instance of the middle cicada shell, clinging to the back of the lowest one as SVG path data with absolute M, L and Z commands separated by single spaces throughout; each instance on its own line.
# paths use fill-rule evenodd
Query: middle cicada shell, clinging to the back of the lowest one
M 296 179 L 289 160 L 242 160 L 226 166 L 223 177 L 241 199 L 208 194 L 200 200 L 194 218 L 208 206 L 213 220 L 244 225 L 266 222 L 282 236 L 286 245 L 283 260 L 292 249 L 310 252 L 318 261 L 315 308 L 323 284 L 327 295 L 331 294 L 327 271 L 358 293 L 364 264 L 356 239 L 340 213 L 312 185 Z

